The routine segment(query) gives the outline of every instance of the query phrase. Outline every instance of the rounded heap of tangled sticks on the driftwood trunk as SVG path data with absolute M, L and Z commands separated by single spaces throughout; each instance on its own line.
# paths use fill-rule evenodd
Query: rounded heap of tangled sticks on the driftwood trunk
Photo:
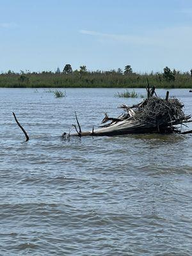
M 154 131 L 172 132 L 176 131 L 173 125 L 186 122 L 190 116 L 185 116 L 182 108 L 183 104 L 178 99 L 161 99 L 159 97 L 149 97 L 140 104 L 131 108 L 122 105 L 127 112 L 127 120 L 137 120 L 140 124 L 150 126 Z M 130 115 L 131 114 L 131 115 Z M 126 114 L 124 114 L 126 116 Z M 128 117 L 129 116 L 129 117 Z

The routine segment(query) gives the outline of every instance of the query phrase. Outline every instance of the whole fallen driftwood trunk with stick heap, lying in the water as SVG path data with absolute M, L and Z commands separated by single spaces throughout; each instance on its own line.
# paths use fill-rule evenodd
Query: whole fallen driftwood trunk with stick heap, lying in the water
M 168 99 L 169 93 L 166 93 L 165 99 L 157 97 L 155 88 L 147 88 L 147 99 L 141 103 L 127 106 L 120 106 L 124 110 L 122 115 L 113 118 L 105 113 L 102 120 L 102 126 L 99 129 L 82 132 L 77 119 L 77 126 L 73 125 L 76 133 L 62 134 L 61 138 L 69 136 L 114 136 L 122 134 L 137 133 L 180 133 L 187 134 L 192 131 L 181 131 L 181 125 L 192 122 L 190 115 L 184 115 L 182 108 L 184 105 L 176 98 Z M 108 123 L 108 124 L 106 124 Z M 178 127 L 180 125 L 180 127 Z

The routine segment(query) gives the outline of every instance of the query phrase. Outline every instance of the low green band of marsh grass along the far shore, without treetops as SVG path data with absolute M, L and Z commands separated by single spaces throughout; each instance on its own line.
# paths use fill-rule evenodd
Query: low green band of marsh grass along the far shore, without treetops
M 176 74 L 175 81 L 166 81 L 163 74 L 89 73 L 79 75 L 52 72 L 0 74 L 1 88 L 145 88 L 147 78 L 156 88 L 192 88 L 188 73 Z

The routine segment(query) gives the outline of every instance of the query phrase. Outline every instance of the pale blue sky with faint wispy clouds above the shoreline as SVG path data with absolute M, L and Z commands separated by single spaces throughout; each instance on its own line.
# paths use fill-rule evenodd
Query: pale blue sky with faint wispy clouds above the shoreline
M 0 72 L 192 68 L 191 0 L 0 0 Z

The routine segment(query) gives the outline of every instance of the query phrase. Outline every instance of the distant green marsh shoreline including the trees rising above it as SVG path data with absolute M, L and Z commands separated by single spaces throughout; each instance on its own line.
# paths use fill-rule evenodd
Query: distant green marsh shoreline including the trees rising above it
M 1 87 L 145 87 L 147 78 L 150 83 L 159 88 L 192 88 L 192 68 L 189 72 L 180 72 L 164 67 L 163 72 L 139 74 L 133 72 L 131 65 L 125 65 L 124 70 L 90 71 L 86 65 L 73 70 L 70 64 L 63 65 L 63 70 L 56 68 L 55 72 L 2 72 Z

